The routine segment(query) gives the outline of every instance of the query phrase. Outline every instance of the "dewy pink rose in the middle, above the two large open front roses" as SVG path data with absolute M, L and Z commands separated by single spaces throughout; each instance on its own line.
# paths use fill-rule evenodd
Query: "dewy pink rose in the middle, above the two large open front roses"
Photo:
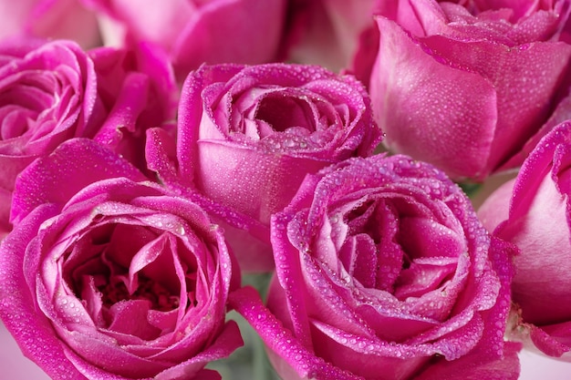
M 223 221 L 249 231 L 226 229 L 245 270 L 273 267 L 270 216 L 306 173 L 368 156 L 381 138 L 354 77 L 286 64 L 201 67 L 182 87 L 176 148 L 161 132 L 150 131 L 150 168 L 213 200 Z M 169 160 L 176 162 L 170 169 Z

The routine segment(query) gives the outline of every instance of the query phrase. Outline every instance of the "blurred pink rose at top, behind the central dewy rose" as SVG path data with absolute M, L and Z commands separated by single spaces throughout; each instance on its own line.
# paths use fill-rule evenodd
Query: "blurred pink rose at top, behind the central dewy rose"
M 203 63 L 273 61 L 285 23 L 285 0 L 83 2 L 99 14 L 106 45 L 160 46 L 181 80 Z

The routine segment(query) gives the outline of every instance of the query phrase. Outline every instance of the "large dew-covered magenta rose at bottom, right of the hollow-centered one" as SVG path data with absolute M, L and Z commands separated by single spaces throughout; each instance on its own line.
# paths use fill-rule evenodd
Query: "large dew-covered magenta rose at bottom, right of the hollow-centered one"
M 307 176 L 272 246 L 269 311 L 253 289 L 231 303 L 283 379 L 517 378 L 514 247 L 431 165 L 377 155 Z

